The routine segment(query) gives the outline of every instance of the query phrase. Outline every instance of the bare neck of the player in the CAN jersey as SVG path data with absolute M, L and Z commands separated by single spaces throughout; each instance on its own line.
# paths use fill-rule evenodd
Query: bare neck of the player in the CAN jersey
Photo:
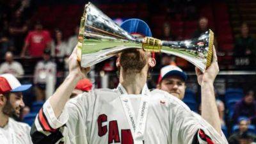
M 132 72 L 125 73 L 122 70 L 120 72 L 120 83 L 128 94 L 140 94 L 146 82 L 147 72 L 143 72 L 143 70 L 136 74 Z

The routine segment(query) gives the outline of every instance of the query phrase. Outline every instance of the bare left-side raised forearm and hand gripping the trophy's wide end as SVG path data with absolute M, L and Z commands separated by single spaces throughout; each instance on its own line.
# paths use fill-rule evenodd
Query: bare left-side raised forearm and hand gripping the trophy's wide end
M 49 100 L 54 115 L 58 118 L 61 111 L 65 107 L 68 99 L 74 88 L 76 87 L 77 82 L 80 79 L 83 79 L 85 75 L 89 72 L 90 68 L 81 68 L 77 61 L 77 47 L 74 49 L 70 57 L 68 58 L 68 67 L 69 74 L 66 77 L 65 81 L 60 85 L 56 92 L 52 95 Z

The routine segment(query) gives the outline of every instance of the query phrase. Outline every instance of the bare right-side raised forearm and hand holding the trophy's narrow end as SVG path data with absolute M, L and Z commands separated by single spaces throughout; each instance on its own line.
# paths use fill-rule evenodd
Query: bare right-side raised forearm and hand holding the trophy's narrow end
M 196 76 L 202 91 L 202 118 L 211 124 L 217 132 L 221 133 L 221 122 L 213 87 L 214 79 L 219 71 L 216 50 L 214 47 L 211 66 L 207 68 L 204 73 L 196 68 Z

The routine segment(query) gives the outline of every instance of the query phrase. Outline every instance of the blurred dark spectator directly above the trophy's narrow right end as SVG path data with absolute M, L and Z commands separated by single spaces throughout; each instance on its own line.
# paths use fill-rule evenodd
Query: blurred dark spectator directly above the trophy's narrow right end
M 206 17 L 201 17 L 198 20 L 198 29 L 193 33 L 192 38 L 198 38 L 209 29 L 208 27 L 208 19 Z

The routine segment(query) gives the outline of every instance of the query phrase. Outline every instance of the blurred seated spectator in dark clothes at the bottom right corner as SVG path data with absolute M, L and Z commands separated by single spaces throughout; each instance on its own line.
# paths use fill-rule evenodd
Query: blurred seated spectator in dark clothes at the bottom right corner
M 231 134 L 231 136 L 228 138 L 228 143 L 229 144 L 239 144 L 241 136 L 243 134 L 246 134 L 247 136 L 250 136 L 250 138 L 252 138 L 252 140 L 255 140 L 256 135 L 254 133 L 248 131 L 249 125 L 250 125 L 250 120 L 248 118 L 241 118 L 241 120 L 239 120 L 239 131 Z

